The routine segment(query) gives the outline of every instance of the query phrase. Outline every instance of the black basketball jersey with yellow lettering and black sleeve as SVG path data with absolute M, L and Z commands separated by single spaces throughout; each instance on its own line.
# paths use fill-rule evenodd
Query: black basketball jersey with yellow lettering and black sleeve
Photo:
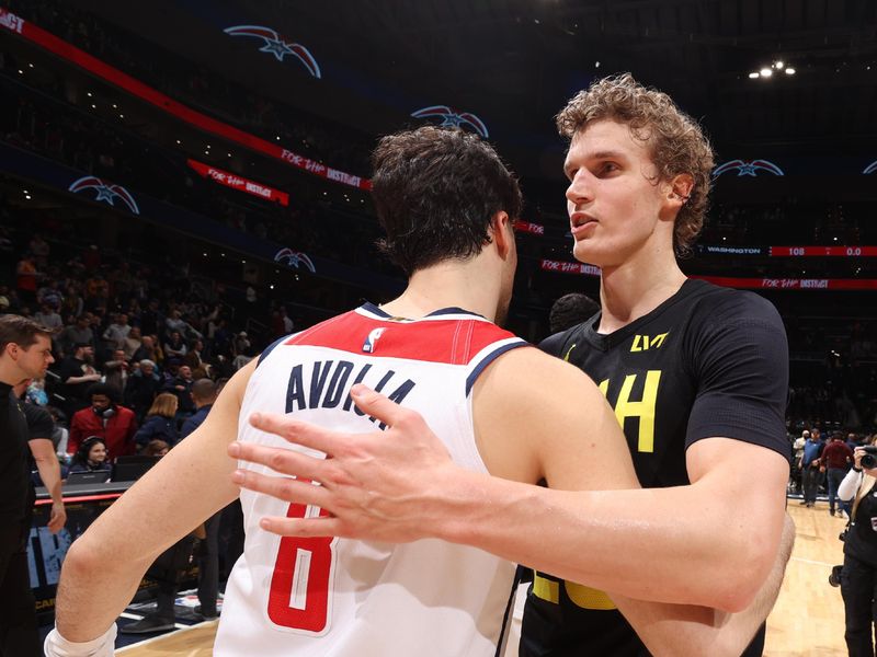
M 624 428 L 643 487 L 690 483 L 697 440 L 733 436 L 783 453 L 786 341 L 762 297 L 688 279 L 651 312 L 600 332 L 601 315 L 539 346 L 588 373 Z M 775 358 L 768 358 L 770 354 Z M 775 360 L 777 371 L 764 367 Z M 760 655 L 763 631 L 747 655 Z M 648 655 L 612 599 L 536 573 L 523 655 Z

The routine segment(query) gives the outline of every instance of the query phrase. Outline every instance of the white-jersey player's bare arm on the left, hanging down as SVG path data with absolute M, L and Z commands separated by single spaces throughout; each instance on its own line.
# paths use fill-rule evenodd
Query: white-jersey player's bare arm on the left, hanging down
M 104 511 L 70 546 L 56 602 L 58 632 L 87 642 L 110 627 L 149 565 L 238 495 L 226 448 L 238 434 L 243 391 L 257 361 L 238 371 L 209 415 Z

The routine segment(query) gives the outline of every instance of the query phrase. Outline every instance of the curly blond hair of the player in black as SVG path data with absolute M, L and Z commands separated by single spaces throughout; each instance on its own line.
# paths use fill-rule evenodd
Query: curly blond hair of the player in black
M 646 143 L 660 180 L 671 181 L 681 173 L 694 178 L 673 226 L 673 249 L 676 255 L 687 255 L 704 226 L 715 165 L 713 147 L 701 126 L 676 107 L 669 95 L 642 87 L 630 73 L 593 82 L 577 93 L 556 117 L 557 129 L 567 139 L 601 119 L 630 127 L 630 135 Z

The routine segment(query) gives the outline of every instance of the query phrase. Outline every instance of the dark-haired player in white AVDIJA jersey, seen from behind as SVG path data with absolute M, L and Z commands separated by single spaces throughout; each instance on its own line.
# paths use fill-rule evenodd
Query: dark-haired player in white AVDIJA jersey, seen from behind
M 415 408 L 440 428 L 453 462 L 474 473 L 563 489 L 637 487 L 618 424 L 594 383 L 493 323 L 512 291 L 521 196 L 492 149 L 458 130 L 387 137 L 375 152 L 373 185 L 384 247 L 410 276 L 406 291 L 383 308 L 365 304 L 278 341 L 232 378 L 204 424 L 71 546 L 47 655 L 112 654 L 114 621 L 150 563 L 239 493 L 247 540 L 216 655 L 494 655 L 510 562 L 437 540 L 282 539 L 265 531 L 263 518 L 314 518 L 320 508 L 236 485 L 273 474 L 286 458 L 320 456 L 272 434 L 278 416 L 358 434 L 384 428 L 354 405 L 357 383 Z M 239 449 L 236 438 L 285 449 L 236 471 L 227 454 Z M 304 476 L 272 481 L 287 493 L 316 489 Z M 624 580 L 623 573 L 607 577 Z M 673 655 L 739 653 L 763 620 L 761 611 L 730 618 L 680 604 L 619 606 L 653 652 Z

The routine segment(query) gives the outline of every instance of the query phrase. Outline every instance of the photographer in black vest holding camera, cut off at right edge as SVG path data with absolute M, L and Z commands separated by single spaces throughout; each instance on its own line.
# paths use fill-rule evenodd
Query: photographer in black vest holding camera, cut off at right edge
M 842 500 L 853 500 L 841 573 L 846 621 L 844 638 L 851 657 L 874 657 L 874 624 L 877 622 L 877 491 L 874 488 L 877 454 L 874 452 L 877 452 L 874 447 L 856 448 L 853 468 L 838 489 Z

